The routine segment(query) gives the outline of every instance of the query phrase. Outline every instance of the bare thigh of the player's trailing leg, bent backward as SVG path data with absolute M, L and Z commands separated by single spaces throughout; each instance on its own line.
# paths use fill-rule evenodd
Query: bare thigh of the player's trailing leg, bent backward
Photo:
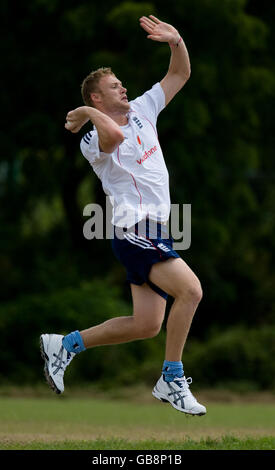
M 166 300 L 153 291 L 148 284 L 130 284 L 133 299 L 133 314 L 143 324 L 162 323 Z

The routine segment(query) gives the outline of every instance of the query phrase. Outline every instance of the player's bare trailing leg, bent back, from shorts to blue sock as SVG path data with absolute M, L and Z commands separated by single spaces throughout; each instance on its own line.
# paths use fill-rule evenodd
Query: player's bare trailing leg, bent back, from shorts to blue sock
M 80 331 L 86 348 L 119 344 L 158 334 L 163 322 L 166 300 L 147 284 L 131 284 L 133 315 L 116 317 Z

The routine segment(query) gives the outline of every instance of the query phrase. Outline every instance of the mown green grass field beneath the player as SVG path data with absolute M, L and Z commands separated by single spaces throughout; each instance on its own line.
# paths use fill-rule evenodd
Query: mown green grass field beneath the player
M 145 402 L 2 396 L 0 449 L 275 449 L 275 401 L 204 403 L 206 416 L 186 417 L 149 395 Z

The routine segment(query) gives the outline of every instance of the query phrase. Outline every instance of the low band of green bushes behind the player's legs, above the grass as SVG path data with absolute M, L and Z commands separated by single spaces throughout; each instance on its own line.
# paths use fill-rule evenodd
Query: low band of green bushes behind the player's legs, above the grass
M 0 308 L 1 382 L 41 382 L 41 333 L 67 334 L 131 314 L 121 292 L 100 280 L 4 303 Z M 161 373 L 164 345 L 163 328 L 152 339 L 96 347 L 74 359 L 66 372 L 66 383 L 89 382 L 104 388 L 152 385 Z M 237 326 L 225 331 L 216 328 L 204 341 L 191 335 L 183 356 L 185 373 L 200 387 L 274 389 L 274 348 L 275 328 L 271 325 L 258 329 Z

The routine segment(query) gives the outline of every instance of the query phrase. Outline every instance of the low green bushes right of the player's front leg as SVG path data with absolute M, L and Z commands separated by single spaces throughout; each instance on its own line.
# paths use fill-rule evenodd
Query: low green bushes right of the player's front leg
M 186 373 L 200 386 L 235 391 L 275 389 L 274 325 L 216 329 L 204 342 L 190 340 L 184 353 Z

